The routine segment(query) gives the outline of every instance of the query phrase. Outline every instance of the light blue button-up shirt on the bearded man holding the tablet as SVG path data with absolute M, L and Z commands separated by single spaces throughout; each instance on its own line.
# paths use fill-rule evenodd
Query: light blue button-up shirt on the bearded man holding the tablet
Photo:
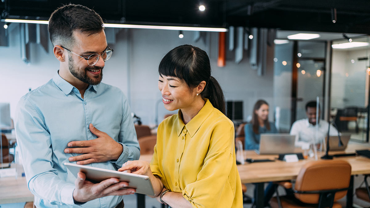
M 127 160 L 140 155 L 134 122 L 127 98 L 111 85 L 90 85 L 84 98 L 57 73 L 36 90 L 24 95 L 17 106 L 16 135 L 23 158 L 27 185 L 35 195 L 36 207 L 115 207 L 122 196 L 94 199 L 83 205 L 73 202 L 76 177 L 64 165 L 68 142 L 97 138 L 92 123 L 123 146 L 117 161 L 89 166 L 117 170 Z M 75 163 L 75 162 L 74 162 Z

